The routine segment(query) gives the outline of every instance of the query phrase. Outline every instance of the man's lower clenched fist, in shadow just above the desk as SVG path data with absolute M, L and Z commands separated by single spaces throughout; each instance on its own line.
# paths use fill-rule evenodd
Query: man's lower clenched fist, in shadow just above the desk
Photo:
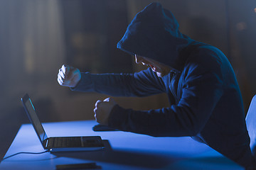
M 110 117 L 110 112 L 112 108 L 117 103 L 112 98 L 106 98 L 104 101 L 97 101 L 95 103 L 95 119 L 97 123 L 101 125 L 108 125 L 108 118 Z

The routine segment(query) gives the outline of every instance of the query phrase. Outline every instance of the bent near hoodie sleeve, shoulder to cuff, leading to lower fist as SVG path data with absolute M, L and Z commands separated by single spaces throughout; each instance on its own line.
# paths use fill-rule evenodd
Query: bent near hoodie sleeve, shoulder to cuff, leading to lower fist
M 205 57 L 205 56 L 202 56 Z M 169 108 L 134 111 L 114 106 L 109 125 L 152 136 L 194 136 L 201 132 L 223 95 L 221 64 L 193 60 L 186 64 L 178 103 Z M 209 66 L 211 65 L 211 66 Z

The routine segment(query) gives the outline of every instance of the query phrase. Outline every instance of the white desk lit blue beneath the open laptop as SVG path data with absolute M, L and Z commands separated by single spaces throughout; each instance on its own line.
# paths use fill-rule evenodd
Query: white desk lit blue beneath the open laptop
M 0 169 L 55 169 L 56 164 L 96 162 L 102 169 L 242 169 L 191 137 L 150 137 L 130 132 L 94 132 L 95 120 L 43 123 L 48 137 L 100 135 L 107 148 L 97 152 L 18 154 L 5 159 Z M 32 125 L 22 125 L 5 157 L 17 152 L 43 152 Z

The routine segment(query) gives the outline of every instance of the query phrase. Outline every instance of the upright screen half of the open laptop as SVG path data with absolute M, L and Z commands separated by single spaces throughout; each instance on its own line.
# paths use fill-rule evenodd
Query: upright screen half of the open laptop
M 23 98 L 21 98 L 21 101 L 23 103 L 23 106 L 25 108 L 26 113 L 28 114 L 28 118 L 30 119 L 33 128 L 36 130 L 36 134 L 38 135 L 41 144 L 43 145 L 43 141 L 47 139 L 47 135 L 45 130 L 43 130 L 43 126 L 36 114 L 36 110 L 33 107 L 33 103 L 31 101 L 31 99 L 29 98 L 28 94 L 26 94 L 25 96 L 23 96 Z M 44 145 L 43 145 L 44 147 Z

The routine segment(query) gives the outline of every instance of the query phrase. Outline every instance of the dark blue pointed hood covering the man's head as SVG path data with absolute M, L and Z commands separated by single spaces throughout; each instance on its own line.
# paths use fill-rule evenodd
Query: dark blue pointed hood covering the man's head
M 154 2 L 137 13 L 117 48 L 181 71 L 183 61 L 179 54 L 191 42 L 191 38 L 178 30 L 178 22 L 171 11 Z

